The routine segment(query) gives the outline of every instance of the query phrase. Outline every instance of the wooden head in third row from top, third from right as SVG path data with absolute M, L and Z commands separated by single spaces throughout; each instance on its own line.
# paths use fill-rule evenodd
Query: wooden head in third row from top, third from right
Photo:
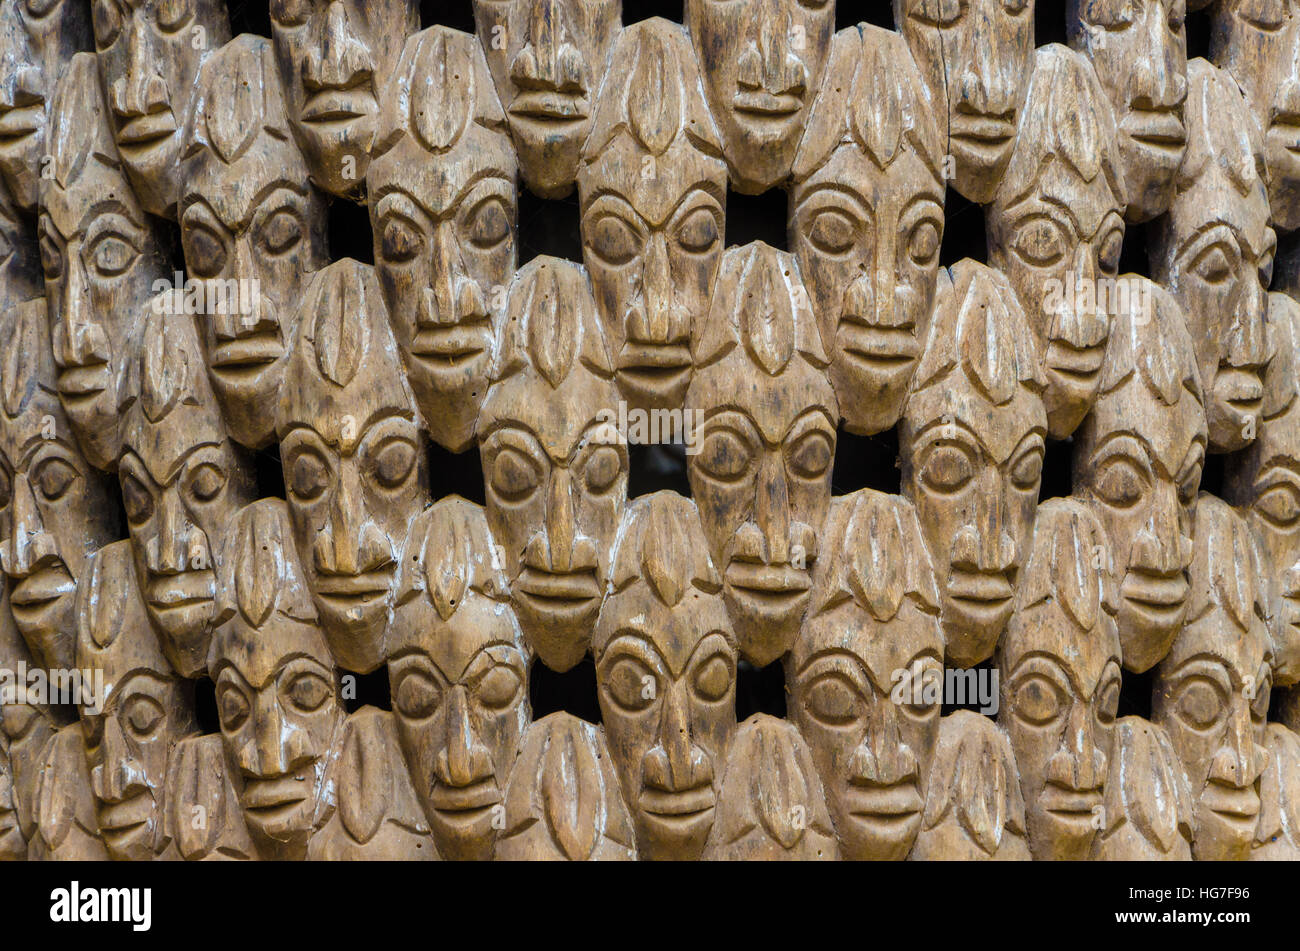
M 1028 553 L 1046 437 L 1034 334 L 1006 278 L 975 261 L 940 288 L 898 430 L 942 600 L 945 661 L 993 653 Z

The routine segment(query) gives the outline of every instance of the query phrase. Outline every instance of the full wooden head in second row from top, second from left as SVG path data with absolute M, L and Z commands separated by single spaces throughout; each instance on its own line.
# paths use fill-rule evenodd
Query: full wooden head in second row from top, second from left
M 196 87 L 179 171 L 181 243 L 196 299 L 185 312 L 199 314 L 230 438 L 260 448 L 276 440 L 298 304 L 329 261 L 325 199 L 290 134 L 270 40 L 235 38 L 208 57 Z

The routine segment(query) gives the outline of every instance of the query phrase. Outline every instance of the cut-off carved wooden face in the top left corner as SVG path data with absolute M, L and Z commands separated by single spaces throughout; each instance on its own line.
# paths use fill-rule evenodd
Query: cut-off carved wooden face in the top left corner
M 0 12 L 0 177 L 27 214 L 36 209 L 46 168 L 55 83 L 90 39 L 90 17 L 78 0 L 14 0 Z

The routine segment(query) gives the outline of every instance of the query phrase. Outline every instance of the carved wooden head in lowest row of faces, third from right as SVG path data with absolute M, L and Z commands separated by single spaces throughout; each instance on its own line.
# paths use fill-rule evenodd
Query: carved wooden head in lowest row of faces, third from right
M 836 499 L 812 607 L 785 664 L 846 859 L 906 857 L 939 738 L 939 591 L 911 505 L 861 490 Z M 901 672 L 901 673 L 900 673 Z M 896 694 L 900 683 L 907 687 Z

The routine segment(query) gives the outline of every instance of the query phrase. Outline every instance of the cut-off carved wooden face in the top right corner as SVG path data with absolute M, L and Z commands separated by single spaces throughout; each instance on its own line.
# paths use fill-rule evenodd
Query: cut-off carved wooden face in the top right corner
M 1273 223 L 1300 227 L 1300 5 L 1296 0 L 1223 0 L 1212 56 L 1245 91 L 1264 133 Z

